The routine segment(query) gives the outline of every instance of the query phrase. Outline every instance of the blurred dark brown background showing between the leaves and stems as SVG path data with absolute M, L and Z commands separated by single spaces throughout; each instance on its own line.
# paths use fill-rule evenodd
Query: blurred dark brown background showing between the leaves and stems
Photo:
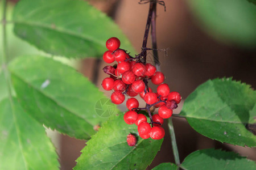
M 139 5 L 138 2 L 138 0 L 90 1 L 93 6 L 106 12 L 115 20 L 139 52 L 146 25 L 148 4 Z M 158 5 L 156 33 L 158 48 L 168 48 L 168 56 L 159 52 L 159 57 L 161 69 L 166 75 L 165 82 L 170 85 L 171 91 L 180 92 L 185 99 L 197 86 L 208 79 L 224 76 L 232 76 L 234 80 L 241 80 L 255 88 L 255 48 L 242 48 L 232 43 L 223 44 L 212 39 L 212 36 L 203 31 L 200 21 L 193 15 L 185 0 L 166 1 L 166 8 L 167 11 L 164 12 L 164 7 Z M 151 47 L 150 40 L 148 47 Z M 121 46 L 121 48 L 125 47 Z M 101 72 L 104 66 L 105 63 L 101 60 L 88 58 L 82 61 L 80 71 L 101 87 L 101 81 L 106 77 Z M 97 73 L 97 71 L 100 72 Z M 155 86 L 152 87 L 156 90 Z M 106 95 L 110 96 L 108 93 Z M 182 103 L 174 113 L 179 113 L 181 107 Z M 235 151 L 256 160 L 255 148 L 222 144 L 200 135 L 183 118 L 174 118 L 173 121 L 181 162 L 193 151 L 212 147 Z M 167 122 L 164 123 L 164 128 L 167 133 L 162 148 L 148 169 L 162 162 L 174 163 Z M 85 141 L 60 135 L 58 149 L 61 169 L 72 169 L 84 146 Z

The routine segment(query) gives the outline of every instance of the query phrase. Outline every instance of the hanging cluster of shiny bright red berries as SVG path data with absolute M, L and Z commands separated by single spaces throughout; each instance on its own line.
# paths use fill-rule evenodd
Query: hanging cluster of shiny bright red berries
M 111 95 L 114 104 L 121 104 L 125 95 L 130 96 L 126 102 L 129 111 L 125 113 L 123 120 L 129 125 L 136 124 L 141 138 L 162 139 L 165 134 L 161 127 L 163 118 L 172 116 L 172 110 L 177 108 L 181 96 L 178 92 L 170 92 L 168 84 L 163 83 L 163 73 L 156 71 L 156 67 L 150 63 L 143 63 L 142 55 L 133 58 L 119 46 L 120 41 L 116 37 L 106 41 L 108 51 L 104 53 L 103 59 L 106 63 L 116 61 L 117 64 L 104 67 L 104 72 L 110 77 L 102 81 L 102 87 L 107 91 L 114 91 Z M 156 93 L 148 87 L 148 80 L 158 85 Z M 138 94 L 146 102 L 146 107 L 139 108 L 139 102 L 134 98 Z M 159 108 L 158 114 L 151 116 L 155 108 Z M 138 114 L 141 110 L 148 112 L 150 123 L 144 114 Z

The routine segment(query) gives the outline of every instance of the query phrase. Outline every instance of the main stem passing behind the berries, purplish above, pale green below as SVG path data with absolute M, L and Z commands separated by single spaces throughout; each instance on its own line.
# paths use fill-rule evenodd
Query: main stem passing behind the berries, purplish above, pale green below
M 151 18 L 152 49 L 157 49 L 157 44 L 156 44 L 156 2 L 153 3 L 152 8 L 153 8 L 152 9 L 152 18 Z M 153 50 L 153 55 L 154 55 L 154 63 L 155 63 L 155 66 L 156 66 L 156 70 L 160 71 L 158 51 Z M 175 163 L 176 163 L 176 165 L 180 165 L 179 152 L 177 150 L 176 138 L 175 138 L 175 133 L 174 133 L 174 126 L 172 124 L 172 118 L 171 117 L 168 119 L 168 127 L 169 127 L 170 135 L 171 135 L 172 150 L 174 152 Z

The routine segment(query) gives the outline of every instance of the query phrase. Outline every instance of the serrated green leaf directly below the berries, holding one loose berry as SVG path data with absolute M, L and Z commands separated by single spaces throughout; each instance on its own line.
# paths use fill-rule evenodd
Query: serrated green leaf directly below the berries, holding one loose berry
M 163 139 L 137 138 L 137 145 L 127 145 L 129 133 L 138 133 L 136 125 L 127 125 L 123 113 L 113 116 L 93 135 L 82 149 L 74 169 L 145 169 L 160 150 Z

